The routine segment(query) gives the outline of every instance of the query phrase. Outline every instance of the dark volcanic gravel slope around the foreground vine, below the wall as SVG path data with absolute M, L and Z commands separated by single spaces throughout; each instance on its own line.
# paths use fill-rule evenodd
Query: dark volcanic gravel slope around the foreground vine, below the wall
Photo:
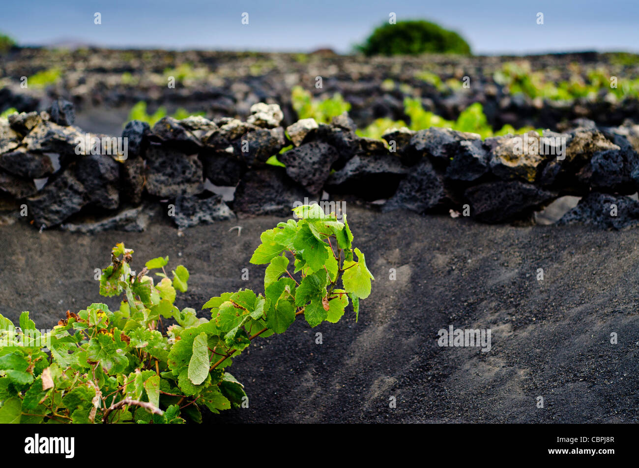
M 256 339 L 232 369 L 250 408 L 206 421 L 639 422 L 639 231 L 347 212 L 376 277 L 359 322 L 347 311 L 339 324 L 311 329 L 298 320 L 284 335 Z M 278 221 L 219 222 L 182 237 L 165 221 L 145 233 L 93 236 L 0 226 L 0 311 L 15 320 L 29 309 L 46 328 L 67 309 L 112 304 L 93 276 L 119 241 L 135 249 L 137 269 L 166 254 L 169 265 L 189 268 L 180 307 L 199 309 L 240 287 L 262 290 L 264 267 L 249 258 L 259 233 Z M 240 237 L 228 231 L 238 224 Z M 491 329 L 491 351 L 439 347 L 437 332 L 449 325 Z

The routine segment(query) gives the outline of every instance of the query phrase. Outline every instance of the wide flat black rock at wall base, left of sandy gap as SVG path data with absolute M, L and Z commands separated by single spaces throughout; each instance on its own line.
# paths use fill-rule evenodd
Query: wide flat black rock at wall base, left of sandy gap
M 535 208 L 557 198 L 554 192 L 518 180 L 474 185 L 466 190 L 465 196 L 470 202 L 473 217 L 483 222 L 523 219 L 530 216 Z

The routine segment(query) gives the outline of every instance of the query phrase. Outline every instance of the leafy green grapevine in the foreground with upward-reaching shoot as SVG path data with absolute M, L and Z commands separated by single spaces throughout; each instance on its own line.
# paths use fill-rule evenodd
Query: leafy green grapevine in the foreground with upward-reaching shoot
M 188 288 L 185 267 L 167 275 L 169 258 L 158 257 L 136 275 L 124 244 L 100 276 L 100 294 L 122 297 L 118 310 L 98 303 L 67 311 L 47 332 L 28 312 L 19 328 L 0 315 L 0 423 L 199 423 L 204 408 L 245 405 L 227 368 L 252 339 L 283 333 L 302 314 L 311 327 L 335 323 L 349 299 L 357 320 L 359 299 L 371 292 L 346 215 L 338 221 L 316 204 L 293 212 L 298 220 L 262 233 L 250 259 L 267 265 L 264 293 L 212 297 L 203 306 L 210 319 L 174 305 Z M 169 319 L 176 324 L 165 330 Z

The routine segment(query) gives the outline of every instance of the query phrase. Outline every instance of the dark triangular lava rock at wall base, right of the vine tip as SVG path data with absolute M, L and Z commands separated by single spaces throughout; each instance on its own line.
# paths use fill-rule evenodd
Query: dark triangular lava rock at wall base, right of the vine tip
M 444 199 L 443 176 L 424 158 L 399 182 L 397 191 L 383 205 L 382 211 L 406 208 L 421 214 L 437 207 Z

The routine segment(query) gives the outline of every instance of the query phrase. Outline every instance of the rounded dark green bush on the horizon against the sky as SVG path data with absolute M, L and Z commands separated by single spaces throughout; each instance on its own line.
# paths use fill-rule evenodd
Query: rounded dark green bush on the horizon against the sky
M 470 55 L 470 45 L 458 33 L 424 20 L 382 24 L 357 49 L 367 56 L 424 53 Z

